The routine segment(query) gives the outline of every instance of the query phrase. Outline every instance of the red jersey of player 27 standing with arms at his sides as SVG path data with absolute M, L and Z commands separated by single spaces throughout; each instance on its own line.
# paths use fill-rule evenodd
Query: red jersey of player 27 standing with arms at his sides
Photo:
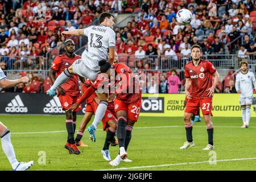
M 210 61 L 201 59 L 200 63 L 195 67 L 193 61 L 185 65 L 185 77 L 191 78 L 191 87 L 189 92 L 193 98 L 209 97 L 209 88 L 212 87 L 212 75 L 216 72 Z

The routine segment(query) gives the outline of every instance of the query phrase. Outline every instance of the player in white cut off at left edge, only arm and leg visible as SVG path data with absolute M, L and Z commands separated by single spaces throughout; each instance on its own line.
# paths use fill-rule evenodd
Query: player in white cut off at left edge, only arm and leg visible
M 3 73 L 2 69 L 0 68 L 0 86 L 2 88 L 10 88 L 20 83 L 26 84 L 29 81 L 28 77 L 24 76 L 17 80 L 8 80 Z M 13 144 L 11 144 L 11 133 L 10 130 L 7 129 L 2 122 L 0 122 L 0 138 L 2 143 L 3 152 L 7 156 L 9 162 L 11 163 L 11 167 L 14 171 L 25 171 L 33 165 L 33 161 L 28 163 L 20 163 L 16 159 Z

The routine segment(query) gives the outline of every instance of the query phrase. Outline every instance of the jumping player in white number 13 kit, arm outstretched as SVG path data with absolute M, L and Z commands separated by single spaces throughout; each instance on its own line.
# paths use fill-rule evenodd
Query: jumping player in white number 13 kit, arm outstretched
M 67 81 L 72 74 L 77 74 L 94 81 L 98 73 L 100 73 L 100 66 L 98 65 L 100 60 L 108 60 L 110 64 L 114 63 L 115 32 L 113 31 L 113 27 L 114 16 L 110 13 L 102 13 L 100 16 L 100 25 L 98 26 L 61 32 L 62 35 L 88 36 L 88 48 L 82 52 L 82 59 L 76 60 L 75 63 L 57 77 L 55 83 L 47 90 L 47 94 L 54 96 L 56 89 Z M 93 136 L 96 126 L 100 123 L 108 107 L 106 95 L 97 95 L 100 99 L 100 104 L 97 107 L 92 125 L 88 127 L 91 136 Z

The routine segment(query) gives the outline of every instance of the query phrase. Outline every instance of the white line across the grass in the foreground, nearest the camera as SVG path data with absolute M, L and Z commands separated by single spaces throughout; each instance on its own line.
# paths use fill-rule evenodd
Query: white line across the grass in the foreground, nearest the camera
M 256 158 L 210 160 L 210 163 L 214 163 L 214 162 L 229 162 L 229 161 L 238 161 L 238 160 L 255 160 L 255 159 Z M 136 167 L 113 168 L 113 169 L 99 169 L 99 170 L 94 170 L 94 171 L 117 171 L 117 170 L 129 170 L 129 169 L 140 169 L 140 168 L 181 166 L 181 165 L 187 165 L 187 164 L 201 164 L 201 163 L 209 163 L 209 160 L 208 161 L 200 161 L 200 162 L 189 162 L 189 163 L 162 164 L 162 165 L 154 165 L 154 166 L 136 166 Z

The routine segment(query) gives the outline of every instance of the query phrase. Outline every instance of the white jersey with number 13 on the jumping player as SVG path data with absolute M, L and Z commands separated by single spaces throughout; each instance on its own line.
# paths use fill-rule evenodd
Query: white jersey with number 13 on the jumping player
M 82 53 L 82 62 L 94 71 L 100 70 L 98 62 L 108 60 L 109 48 L 115 48 L 115 32 L 103 25 L 84 29 L 88 36 L 88 48 Z

